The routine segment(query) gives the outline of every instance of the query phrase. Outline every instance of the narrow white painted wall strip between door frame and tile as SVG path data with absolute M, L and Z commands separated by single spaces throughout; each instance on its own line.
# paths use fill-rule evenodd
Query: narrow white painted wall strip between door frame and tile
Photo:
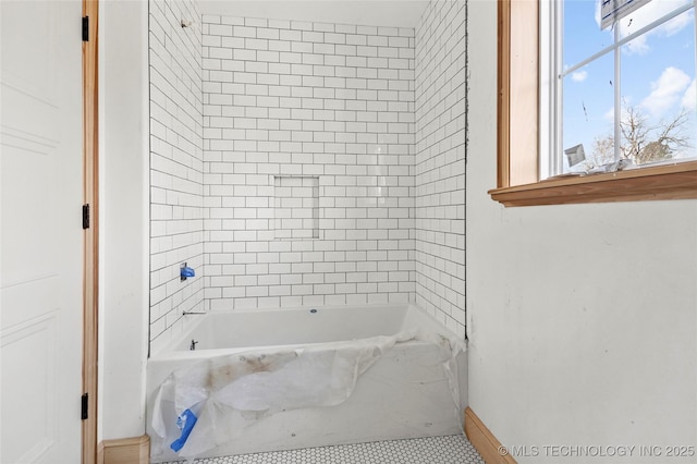
M 100 439 L 145 431 L 147 34 L 147 2 L 100 2 Z

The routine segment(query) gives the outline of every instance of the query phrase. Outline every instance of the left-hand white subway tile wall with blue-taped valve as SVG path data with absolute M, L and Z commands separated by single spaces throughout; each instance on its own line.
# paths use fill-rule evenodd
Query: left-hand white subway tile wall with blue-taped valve
M 150 341 L 157 349 L 182 329 L 183 310 L 204 308 L 203 65 L 196 3 L 151 1 L 149 10 Z M 180 280 L 183 262 L 196 278 Z

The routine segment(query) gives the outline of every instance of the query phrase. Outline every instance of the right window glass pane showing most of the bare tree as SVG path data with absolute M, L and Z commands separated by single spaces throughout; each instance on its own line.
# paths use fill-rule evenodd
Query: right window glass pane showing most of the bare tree
M 652 3 L 662 2 L 655 0 L 627 19 L 640 20 Z M 694 157 L 694 10 L 623 46 L 621 63 L 622 157 L 636 164 Z

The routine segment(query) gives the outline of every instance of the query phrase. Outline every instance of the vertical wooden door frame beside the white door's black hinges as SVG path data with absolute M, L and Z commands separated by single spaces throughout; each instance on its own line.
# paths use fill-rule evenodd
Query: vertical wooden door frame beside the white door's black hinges
M 84 232 L 83 268 L 83 393 L 87 418 L 82 423 L 82 463 L 97 462 L 98 297 L 99 297 L 99 175 L 98 175 L 98 19 L 99 0 L 83 0 L 88 17 L 83 40 L 83 204 L 89 205 L 89 227 Z M 84 37 L 83 37 L 84 38 Z M 83 400 L 84 401 L 84 400 Z

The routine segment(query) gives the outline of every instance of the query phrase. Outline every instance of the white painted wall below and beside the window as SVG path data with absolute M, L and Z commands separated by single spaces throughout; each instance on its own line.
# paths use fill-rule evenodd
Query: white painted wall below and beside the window
M 670 462 L 667 445 L 697 445 L 697 202 L 491 200 L 496 14 L 469 2 L 470 407 L 502 443 L 538 447 L 519 463 Z M 663 454 L 562 460 L 555 444 Z

